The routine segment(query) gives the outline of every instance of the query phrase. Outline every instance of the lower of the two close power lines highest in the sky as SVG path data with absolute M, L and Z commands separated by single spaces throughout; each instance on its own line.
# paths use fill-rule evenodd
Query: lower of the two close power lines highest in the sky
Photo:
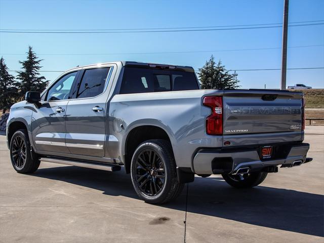
M 294 24 L 290 27 L 296 26 L 310 26 L 310 25 L 323 25 L 324 23 L 313 24 Z M 140 31 L 9 31 L 0 30 L 1 33 L 40 33 L 40 34 L 86 34 L 86 33 L 153 33 L 153 32 L 193 32 L 193 31 L 217 31 L 217 30 L 239 30 L 239 29 L 264 29 L 264 28 L 281 28 L 281 25 L 277 26 L 260 26 L 260 27 L 242 27 L 242 28 L 218 28 L 218 29 L 177 29 L 177 30 L 140 30 Z

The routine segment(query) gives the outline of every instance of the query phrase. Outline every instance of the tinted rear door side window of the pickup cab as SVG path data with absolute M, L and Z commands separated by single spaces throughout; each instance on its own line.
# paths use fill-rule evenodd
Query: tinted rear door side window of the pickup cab
M 79 84 L 75 98 L 88 98 L 100 95 L 103 92 L 108 72 L 109 67 L 87 69 Z

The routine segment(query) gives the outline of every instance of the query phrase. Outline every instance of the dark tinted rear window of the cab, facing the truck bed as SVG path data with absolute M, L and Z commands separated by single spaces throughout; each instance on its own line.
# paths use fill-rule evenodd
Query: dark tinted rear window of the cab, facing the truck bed
M 125 67 L 120 94 L 198 90 L 193 72 Z

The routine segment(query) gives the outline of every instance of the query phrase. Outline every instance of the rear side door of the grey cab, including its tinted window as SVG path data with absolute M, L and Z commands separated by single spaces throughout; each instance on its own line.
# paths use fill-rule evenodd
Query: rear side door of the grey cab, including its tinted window
M 87 68 L 80 73 L 66 111 L 65 142 L 72 154 L 105 155 L 105 115 L 111 66 Z

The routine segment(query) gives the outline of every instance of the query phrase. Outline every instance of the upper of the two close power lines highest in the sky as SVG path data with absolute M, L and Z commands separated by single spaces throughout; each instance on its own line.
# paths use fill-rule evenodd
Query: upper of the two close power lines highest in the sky
M 323 22 L 324 20 L 299 21 L 289 22 L 290 24 Z M 110 30 L 154 30 L 154 29 L 194 29 L 194 28 L 223 28 L 223 27 L 243 27 L 256 25 L 281 25 L 282 23 L 268 23 L 268 24 L 244 24 L 244 25 L 218 25 L 218 26 L 196 26 L 196 27 L 163 27 L 163 28 L 128 28 L 128 29 L 0 29 L 11 31 L 110 31 Z

